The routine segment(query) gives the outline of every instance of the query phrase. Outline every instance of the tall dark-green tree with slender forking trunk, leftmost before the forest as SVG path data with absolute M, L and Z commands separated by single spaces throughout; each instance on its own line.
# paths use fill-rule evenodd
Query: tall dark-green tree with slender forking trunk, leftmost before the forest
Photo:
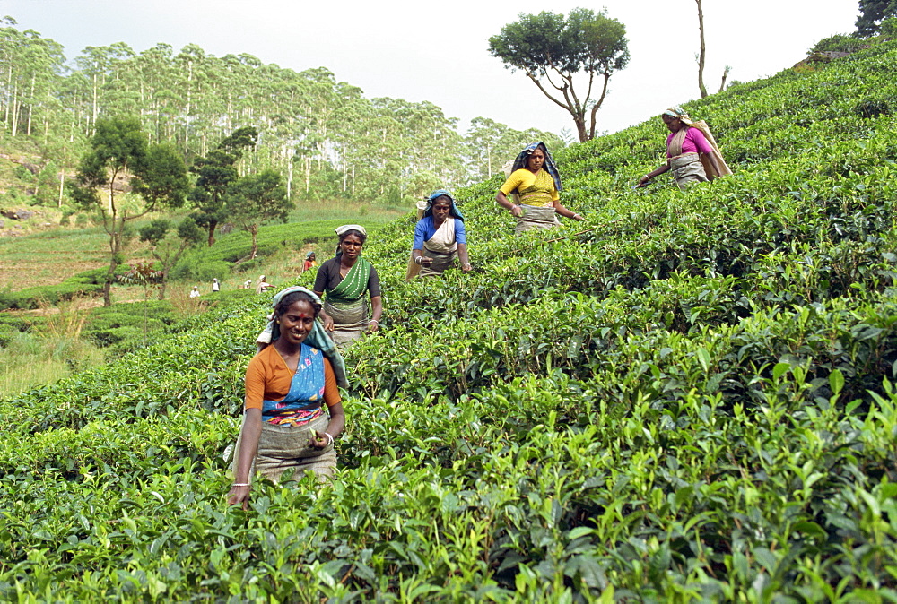
M 109 235 L 109 271 L 103 283 L 103 303 L 110 306 L 110 289 L 115 269 L 123 259 L 128 221 L 160 207 L 183 205 L 189 179 L 179 153 L 167 144 L 149 144 L 137 117 L 100 118 L 94 128 L 90 148 L 78 165 L 77 186 L 71 192 L 76 203 L 100 214 L 103 229 Z M 116 198 L 119 178 L 128 180 L 142 203 L 122 203 Z M 100 187 L 108 193 L 106 201 L 97 192 Z

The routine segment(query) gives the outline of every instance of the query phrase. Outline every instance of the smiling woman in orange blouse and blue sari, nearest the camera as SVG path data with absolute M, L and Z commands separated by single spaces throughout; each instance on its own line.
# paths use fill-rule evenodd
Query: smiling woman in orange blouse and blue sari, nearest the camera
M 305 470 L 332 479 L 334 440 L 345 426 L 337 387 L 348 386 L 345 366 L 317 320 L 320 298 L 292 287 L 274 296 L 273 306 L 246 369 L 243 425 L 231 463 L 227 501 L 244 508 L 256 472 L 274 481 L 285 470 L 296 470 L 295 479 Z

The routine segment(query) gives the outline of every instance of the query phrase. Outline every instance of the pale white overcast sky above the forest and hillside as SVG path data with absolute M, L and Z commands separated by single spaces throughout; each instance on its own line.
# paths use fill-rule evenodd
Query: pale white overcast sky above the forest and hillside
M 598 11 L 626 26 L 631 60 L 610 82 L 597 130 L 615 132 L 699 96 L 698 18 L 694 0 L 0 0 L 19 30 L 65 47 L 125 42 L 140 52 L 158 42 L 178 51 L 195 43 L 214 56 L 248 53 L 295 71 L 324 66 L 364 95 L 430 100 L 466 130 L 476 116 L 518 130 L 573 130 L 562 108 L 522 73 L 488 52 L 488 39 L 519 13 Z M 704 81 L 777 73 L 819 39 L 849 33 L 858 0 L 703 0 Z

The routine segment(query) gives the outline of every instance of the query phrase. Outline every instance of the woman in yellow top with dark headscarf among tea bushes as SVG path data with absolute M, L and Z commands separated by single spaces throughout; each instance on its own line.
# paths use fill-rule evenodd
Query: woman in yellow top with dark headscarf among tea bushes
M 561 174 L 554 165 L 551 153 L 544 142 L 533 142 L 520 151 L 511 167 L 512 172 L 495 195 L 495 201 L 507 208 L 517 218 L 519 235 L 529 229 L 551 229 L 560 223 L 555 214 L 564 218 L 583 220 L 561 204 Z M 519 202 L 508 199 L 517 192 Z

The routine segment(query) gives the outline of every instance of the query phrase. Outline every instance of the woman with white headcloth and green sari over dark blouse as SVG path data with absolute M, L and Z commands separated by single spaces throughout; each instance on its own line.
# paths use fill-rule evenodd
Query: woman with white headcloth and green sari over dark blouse
M 336 257 L 318 268 L 315 293 L 324 298 L 320 317 L 337 346 L 358 340 L 364 332 L 379 328 L 383 304 L 377 270 L 361 257 L 368 238 L 364 227 L 345 224 L 336 229 L 339 247 Z M 368 318 L 370 296 L 371 316 Z

